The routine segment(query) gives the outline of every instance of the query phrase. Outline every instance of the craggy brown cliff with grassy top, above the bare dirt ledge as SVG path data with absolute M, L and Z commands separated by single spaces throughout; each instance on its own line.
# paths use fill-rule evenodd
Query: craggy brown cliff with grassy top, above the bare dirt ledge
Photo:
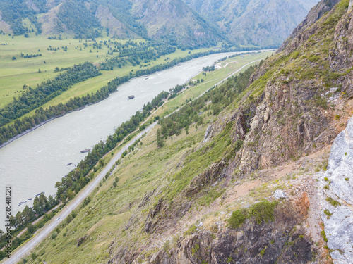
M 342 23 L 347 25 L 343 21 L 349 20 L 348 4 L 340 1 L 318 22 L 298 29 L 282 52 L 251 78 L 246 96 L 226 121 L 234 121 L 232 141 L 242 139 L 246 146 L 234 160 L 242 172 L 299 158 L 330 144 L 337 135 L 333 115 L 338 87 L 345 99 L 352 94 L 349 40 L 342 37 L 347 42 L 342 48 L 338 37 Z M 313 8 L 313 13 L 320 11 Z

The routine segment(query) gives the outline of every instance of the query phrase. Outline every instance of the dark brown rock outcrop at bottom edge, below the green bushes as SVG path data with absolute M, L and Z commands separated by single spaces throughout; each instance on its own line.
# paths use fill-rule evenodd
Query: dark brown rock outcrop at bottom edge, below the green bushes
M 217 234 L 204 230 L 179 239 L 176 246 L 158 251 L 147 263 L 309 263 L 313 256 L 309 239 L 294 228 L 302 218 L 287 206 L 275 209 L 274 222 L 258 225 L 246 220 L 238 229 Z

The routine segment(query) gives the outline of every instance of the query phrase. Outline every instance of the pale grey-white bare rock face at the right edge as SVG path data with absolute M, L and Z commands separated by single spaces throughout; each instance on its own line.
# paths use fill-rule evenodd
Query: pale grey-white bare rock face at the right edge
M 321 218 L 325 224 L 328 247 L 333 250 L 331 256 L 337 264 L 352 263 L 353 118 L 333 143 L 323 185 L 328 187 L 323 189 L 324 211 Z

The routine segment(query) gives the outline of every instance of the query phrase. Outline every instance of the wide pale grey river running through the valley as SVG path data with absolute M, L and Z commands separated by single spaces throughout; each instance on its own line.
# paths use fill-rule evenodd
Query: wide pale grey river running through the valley
M 232 54 L 236 53 L 195 58 L 168 70 L 134 78 L 119 86 L 118 92 L 107 99 L 56 118 L 1 148 L 0 215 L 5 217 L 5 186 L 11 185 L 13 191 L 13 215 L 25 205 L 32 206 L 35 194 L 45 191 L 47 196 L 55 195 L 55 183 L 87 155 L 80 153 L 81 150 L 91 149 L 113 134 L 114 127 L 128 120 L 160 92 L 184 84 L 203 67 Z M 129 100 L 129 95 L 134 95 L 135 99 Z M 20 201 L 27 202 L 18 206 Z M 2 230 L 4 217 L 0 219 Z

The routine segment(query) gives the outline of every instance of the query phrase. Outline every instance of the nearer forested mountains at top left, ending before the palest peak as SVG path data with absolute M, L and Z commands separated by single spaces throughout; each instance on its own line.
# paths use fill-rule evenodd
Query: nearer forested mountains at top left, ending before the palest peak
M 181 0 L 0 1 L 0 30 L 92 38 L 152 38 L 179 47 L 215 46 L 227 37 Z M 30 21 L 25 22 L 29 18 Z

